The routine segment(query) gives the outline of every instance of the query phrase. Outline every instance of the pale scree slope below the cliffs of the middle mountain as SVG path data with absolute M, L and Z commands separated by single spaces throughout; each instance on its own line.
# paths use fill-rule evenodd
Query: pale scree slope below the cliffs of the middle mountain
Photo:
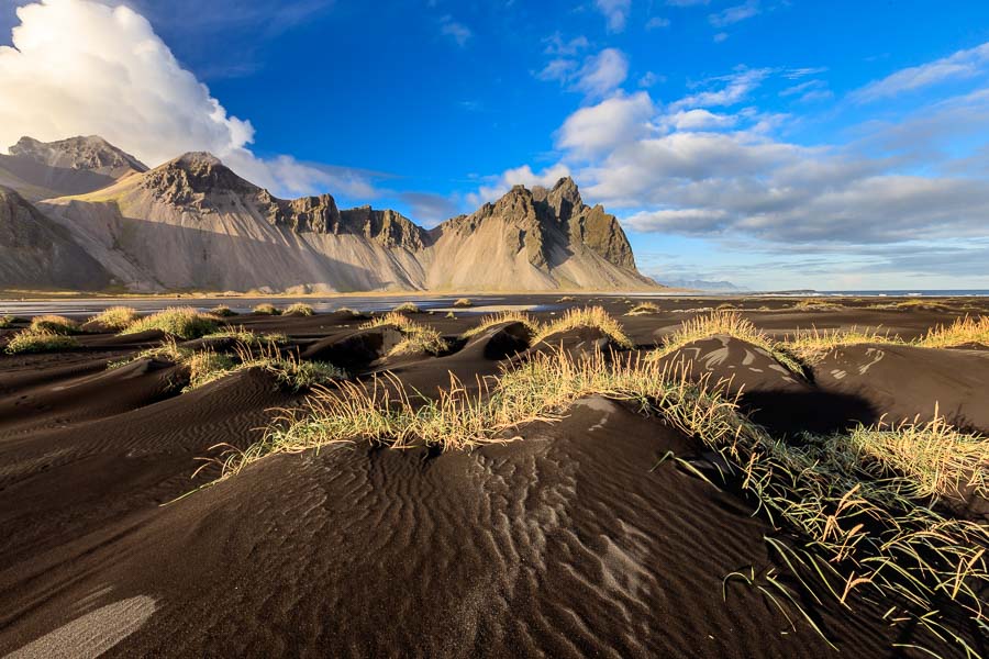
M 151 214 L 159 219 L 154 221 L 140 210 L 124 216 L 112 201 L 56 200 L 44 208 L 114 276 L 148 282 L 151 290 L 413 289 L 421 278 L 404 249 L 353 235 L 296 233 L 236 213 Z

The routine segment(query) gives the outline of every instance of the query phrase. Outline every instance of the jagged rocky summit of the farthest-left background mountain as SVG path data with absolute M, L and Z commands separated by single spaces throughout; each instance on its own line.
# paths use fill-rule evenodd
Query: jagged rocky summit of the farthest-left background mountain
M 79 135 L 56 142 L 21 137 L 10 147 L 10 155 L 65 169 L 107 174 L 113 177 L 130 171 L 147 171 L 147 166 L 99 135 Z

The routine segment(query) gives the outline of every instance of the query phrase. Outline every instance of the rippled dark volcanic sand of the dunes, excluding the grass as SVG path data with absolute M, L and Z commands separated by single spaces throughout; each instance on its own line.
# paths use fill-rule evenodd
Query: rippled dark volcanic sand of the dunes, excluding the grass
M 690 317 L 674 310 L 724 302 L 660 299 L 662 313 L 634 317 L 622 299 L 567 305 L 603 304 L 646 349 Z M 875 300 L 788 310 L 794 302 L 734 301 L 775 308 L 746 315 L 780 336 L 881 325 L 909 338 L 978 313 L 963 305 L 986 310 L 979 300 L 951 302 L 956 312 L 865 309 Z M 457 316 L 415 320 L 451 337 L 478 320 Z M 526 347 L 508 327 L 446 356 L 381 362 L 376 351 L 395 337 L 364 336 L 347 314 L 231 321 L 286 333 L 303 355 L 352 371 L 390 369 L 426 394 L 449 372 L 471 386 Z M 752 502 L 674 461 L 654 469 L 670 450 L 711 465 L 662 421 L 600 398 L 512 444 L 275 456 L 163 506 L 216 476 L 190 478 L 212 446 L 248 446 L 304 393 L 260 371 L 179 394 L 182 376 L 166 361 L 105 370 L 157 338 L 87 335 L 71 351 L 0 357 L 0 656 L 838 656 L 752 589 L 730 583 L 723 599 L 727 573 L 775 565 L 764 536 L 777 532 Z M 578 350 L 593 340 L 564 338 Z M 813 381 L 726 337 L 685 353 L 745 384 L 743 403 L 780 436 L 930 416 L 935 400 L 989 432 L 986 350 L 842 348 Z M 866 603 L 854 615 L 819 611 L 843 656 L 888 657 L 891 643 L 910 641 Z

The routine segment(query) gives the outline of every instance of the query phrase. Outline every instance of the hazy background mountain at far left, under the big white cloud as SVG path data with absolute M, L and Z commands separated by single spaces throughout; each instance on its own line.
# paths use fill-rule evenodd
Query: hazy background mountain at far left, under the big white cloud
M 102 137 L 70 137 L 43 143 L 21 137 L 0 155 L 0 186 L 32 201 L 85 194 L 147 167 Z

